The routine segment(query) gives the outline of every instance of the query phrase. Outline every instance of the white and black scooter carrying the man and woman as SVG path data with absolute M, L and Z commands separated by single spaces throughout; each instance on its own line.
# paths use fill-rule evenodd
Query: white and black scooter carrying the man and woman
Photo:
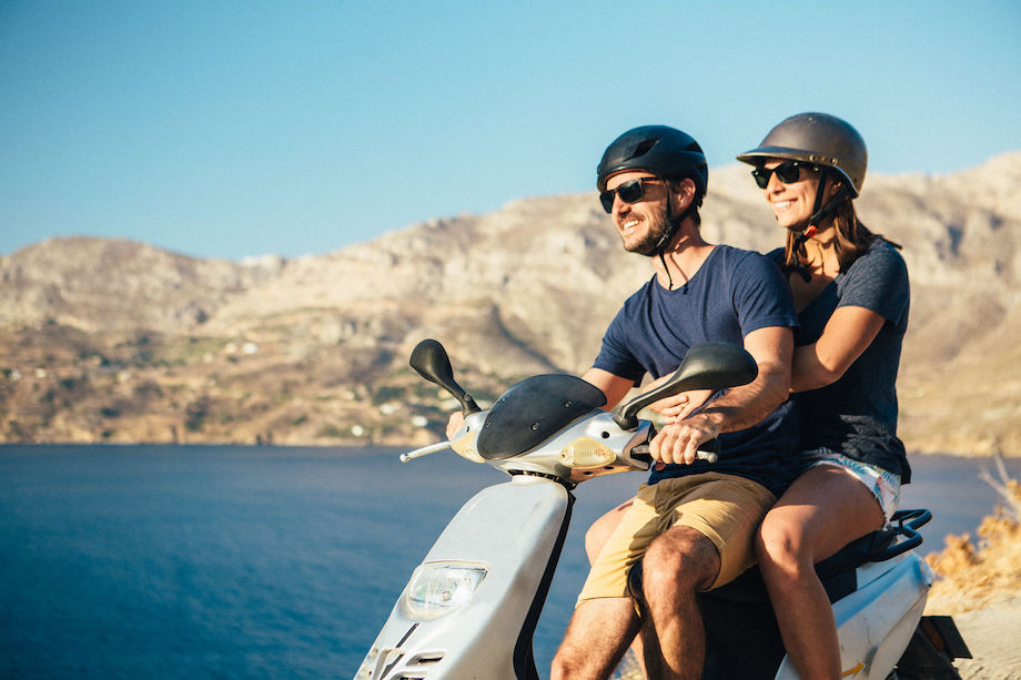
M 532 638 L 559 560 L 574 489 L 594 477 L 646 471 L 653 459 L 648 405 L 691 389 L 750 383 L 758 368 L 744 348 L 691 347 L 657 388 L 602 410 L 604 394 L 569 375 L 538 375 L 508 389 L 488 410 L 454 380 L 443 346 L 423 341 L 411 357 L 419 375 L 449 392 L 465 423 L 447 448 L 507 473 L 455 515 L 415 568 L 355 680 L 538 680 Z M 704 445 L 706 446 L 706 445 Z M 715 461 L 714 451 L 699 457 Z M 913 551 L 928 510 L 907 510 L 881 531 L 818 565 L 837 618 L 845 677 L 959 678 L 970 658 L 949 617 L 922 617 L 932 572 Z M 640 562 L 639 562 L 640 564 Z M 640 567 L 629 575 L 638 587 Z M 761 577 L 752 568 L 700 596 L 706 625 L 704 678 L 796 680 L 785 657 Z

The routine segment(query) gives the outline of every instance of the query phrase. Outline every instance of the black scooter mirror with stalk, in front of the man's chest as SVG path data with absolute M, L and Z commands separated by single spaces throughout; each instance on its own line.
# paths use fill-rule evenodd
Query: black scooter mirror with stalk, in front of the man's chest
M 691 389 L 747 385 L 758 374 L 758 364 L 744 347 L 730 343 L 701 343 L 688 349 L 670 379 L 614 409 L 614 420 L 621 429 L 634 429 L 638 427 L 638 412 L 659 399 Z

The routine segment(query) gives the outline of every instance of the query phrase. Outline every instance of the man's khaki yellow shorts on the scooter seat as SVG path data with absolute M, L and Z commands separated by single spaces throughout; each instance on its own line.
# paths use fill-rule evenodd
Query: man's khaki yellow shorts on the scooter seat
M 720 473 L 643 484 L 588 572 L 578 605 L 595 598 L 629 597 L 628 569 L 670 527 L 691 527 L 719 550 L 720 570 L 712 588 L 732 581 L 755 562 L 755 532 L 776 501 L 762 485 Z

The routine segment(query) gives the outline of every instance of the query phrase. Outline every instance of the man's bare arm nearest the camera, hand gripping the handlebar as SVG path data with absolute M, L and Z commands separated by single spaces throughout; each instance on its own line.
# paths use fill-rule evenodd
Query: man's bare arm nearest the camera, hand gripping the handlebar
M 735 387 L 705 410 L 664 426 L 651 442 L 653 457 L 663 463 L 694 463 L 698 446 L 720 433 L 760 423 L 788 396 L 793 333 L 769 326 L 745 337 L 745 349 L 755 358 L 759 375 Z

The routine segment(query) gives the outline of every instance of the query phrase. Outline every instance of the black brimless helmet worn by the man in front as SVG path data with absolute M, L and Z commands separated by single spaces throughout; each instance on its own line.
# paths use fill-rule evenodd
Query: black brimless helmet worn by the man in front
M 614 140 L 599 161 L 596 186 L 605 191 L 606 180 L 625 170 L 645 170 L 664 180 L 690 177 L 699 197 L 706 195 L 709 185 L 701 146 L 690 135 L 667 125 L 635 128 Z

